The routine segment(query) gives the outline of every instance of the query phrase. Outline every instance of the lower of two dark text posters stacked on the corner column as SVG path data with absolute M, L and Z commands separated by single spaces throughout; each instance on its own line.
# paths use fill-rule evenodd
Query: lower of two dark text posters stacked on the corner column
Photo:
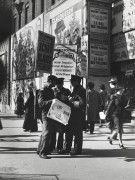
M 93 75 L 108 75 L 109 72 L 109 44 L 108 42 L 90 41 L 90 73 Z

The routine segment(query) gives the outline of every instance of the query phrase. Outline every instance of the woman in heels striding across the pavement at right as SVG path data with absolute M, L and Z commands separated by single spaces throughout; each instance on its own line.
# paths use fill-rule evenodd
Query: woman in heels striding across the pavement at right
M 106 104 L 106 119 L 110 122 L 111 135 L 108 137 L 108 140 L 112 145 L 112 140 L 118 135 L 119 147 L 124 149 L 122 142 L 123 112 L 125 107 L 125 99 L 122 96 L 123 88 L 118 87 L 117 80 L 113 78 L 109 81 L 109 84 L 111 89 Z

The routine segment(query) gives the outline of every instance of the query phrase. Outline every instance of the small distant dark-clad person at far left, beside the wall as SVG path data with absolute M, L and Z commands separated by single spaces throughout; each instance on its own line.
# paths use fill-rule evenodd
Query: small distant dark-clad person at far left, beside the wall
M 17 112 L 16 114 L 18 115 L 18 118 L 21 118 L 21 116 L 24 114 L 24 98 L 23 98 L 23 93 L 19 93 L 19 96 L 17 97 Z

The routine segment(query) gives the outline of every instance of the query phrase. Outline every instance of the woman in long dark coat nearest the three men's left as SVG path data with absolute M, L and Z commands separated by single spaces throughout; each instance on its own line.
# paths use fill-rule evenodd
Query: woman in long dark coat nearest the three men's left
M 37 120 L 34 118 L 34 94 L 29 92 L 29 98 L 27 99 L 25 106 L 25 119 L 23 123 L 24 131 L 35 132 L 38 130 Z

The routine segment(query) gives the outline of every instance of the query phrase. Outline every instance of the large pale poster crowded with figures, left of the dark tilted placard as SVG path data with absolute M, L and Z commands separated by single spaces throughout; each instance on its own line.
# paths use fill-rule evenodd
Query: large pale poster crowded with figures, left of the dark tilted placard
M 12 35 L 11 58 L 13 80 L 34 77 L 39 30 L 43 30 L 43 15 L 37 17 Z

